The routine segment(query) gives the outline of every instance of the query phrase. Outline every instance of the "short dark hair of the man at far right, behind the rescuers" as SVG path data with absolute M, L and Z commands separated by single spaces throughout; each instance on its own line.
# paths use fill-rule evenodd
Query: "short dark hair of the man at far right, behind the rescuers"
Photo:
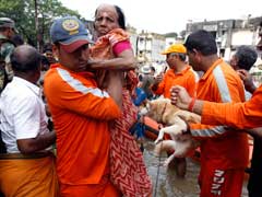
M 237 66 L 240 69 L 250 70 L 258 59 L 258 54 L 253 48 L 241 45 L 237 48 L 235 57 L 237 58 Z

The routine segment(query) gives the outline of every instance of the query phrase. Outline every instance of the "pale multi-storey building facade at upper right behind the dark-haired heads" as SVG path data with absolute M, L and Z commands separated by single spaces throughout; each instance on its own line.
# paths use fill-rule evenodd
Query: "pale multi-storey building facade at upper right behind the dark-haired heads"
M 255 48 L 259 42 L 261 18 L 248 18 L 247 20 L 221 20 L 188 23 L 186 34 L 196 30 L 211 32 L 216 38 L 218 53 L 225 60 L 229 60 L 233 53 L 240 45 Z M 261 51 L 258 50 L 260 54 Z

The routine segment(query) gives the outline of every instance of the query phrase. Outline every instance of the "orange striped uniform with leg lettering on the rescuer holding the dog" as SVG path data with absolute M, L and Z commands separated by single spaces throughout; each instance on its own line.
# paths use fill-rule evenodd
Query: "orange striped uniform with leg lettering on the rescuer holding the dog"
M 245 101 L 245 92 L 237 73 L 218 59 L 199 81 L 196 97 L 218 103 L 241 102 Z M 201 124 L 192 124 L 190 128 L 201 140 L 200 196 L 239 197 L 249 155 L 247 135 L 222 131 L 217 136 L 210 130 L 219 134 L 222 127 Z

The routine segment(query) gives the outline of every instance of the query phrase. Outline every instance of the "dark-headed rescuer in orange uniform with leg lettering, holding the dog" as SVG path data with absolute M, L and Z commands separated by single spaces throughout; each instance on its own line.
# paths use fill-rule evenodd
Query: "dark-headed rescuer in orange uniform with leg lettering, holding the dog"
M 230 104 L 245 101 L 241 79 L 218 58 L 212 34 L 196 31 L 189 35 L 184 46 L 194 70 L 204 71 L 198 84 L 196 99 Z M 171 89 L 174 104 L 179 101 L 176 89 Z M 189 111 L 192 111 L 194 101 L 192 99 L 187 106 Z M 192 136 L 201 141 L 200 196 L 240 197 L 249 155 L 247 135 L 231 132 L 234 129 L 225 131 L 223 126 L 207 126 L 204 123 L 210 124 L 202 119 L 202 124 L 189 126 Z

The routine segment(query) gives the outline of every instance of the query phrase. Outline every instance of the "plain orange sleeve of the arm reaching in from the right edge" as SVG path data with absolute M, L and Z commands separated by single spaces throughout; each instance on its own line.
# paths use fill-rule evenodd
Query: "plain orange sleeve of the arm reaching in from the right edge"
M 202 111 L 203 124 L 228 125 L 231 127 L 254 128 L 262 126 L 262 85 L 254 92 L 251 100 L 245 103 L 204 102 Z

